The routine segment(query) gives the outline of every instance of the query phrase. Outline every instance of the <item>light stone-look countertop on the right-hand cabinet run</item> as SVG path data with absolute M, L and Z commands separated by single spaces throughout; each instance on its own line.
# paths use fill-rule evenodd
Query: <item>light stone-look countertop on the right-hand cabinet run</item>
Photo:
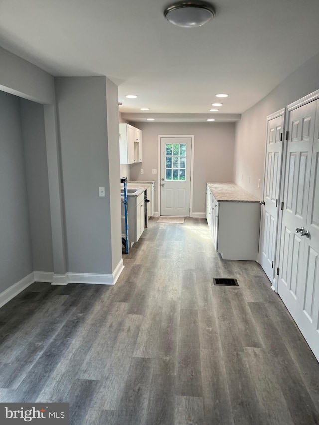
M 256 196 L 232 182 L 207 185 L 218 202 L 260 202 Z

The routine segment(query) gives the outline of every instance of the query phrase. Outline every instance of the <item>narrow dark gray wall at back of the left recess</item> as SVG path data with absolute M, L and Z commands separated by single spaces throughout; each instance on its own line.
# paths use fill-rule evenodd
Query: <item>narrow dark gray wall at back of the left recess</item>
M 53 272 L 43 105 L 20 99 L 33 270 Z

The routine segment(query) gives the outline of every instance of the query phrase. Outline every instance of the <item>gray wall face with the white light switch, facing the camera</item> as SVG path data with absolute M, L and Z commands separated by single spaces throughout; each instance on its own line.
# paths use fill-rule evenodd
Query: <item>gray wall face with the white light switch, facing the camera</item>
M 112 251 L 106 79 L 63 77 L 55 81 L 68 271 L 109 274 Z M 99 197 L 101 186 L 105 187 L 104 198 Z

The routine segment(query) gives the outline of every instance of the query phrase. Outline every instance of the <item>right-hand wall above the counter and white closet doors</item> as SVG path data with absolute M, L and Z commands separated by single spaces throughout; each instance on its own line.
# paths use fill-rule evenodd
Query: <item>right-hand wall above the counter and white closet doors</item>
M 236 124 L 235 137 L 233 178 L 238 185 L 262 198 L 267 115 L 318 89 L 319 54 L 305 62 L 269 95 L 242 114 L 241 120 Z M 261 180 L 260 188 L 258 179 Z

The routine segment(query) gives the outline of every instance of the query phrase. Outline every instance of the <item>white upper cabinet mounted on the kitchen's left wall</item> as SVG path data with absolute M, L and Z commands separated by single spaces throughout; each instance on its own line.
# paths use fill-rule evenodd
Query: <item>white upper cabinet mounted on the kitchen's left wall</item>
M 142 162 L 142 131 L 130 124 L 120 124 L 120 164 Z

